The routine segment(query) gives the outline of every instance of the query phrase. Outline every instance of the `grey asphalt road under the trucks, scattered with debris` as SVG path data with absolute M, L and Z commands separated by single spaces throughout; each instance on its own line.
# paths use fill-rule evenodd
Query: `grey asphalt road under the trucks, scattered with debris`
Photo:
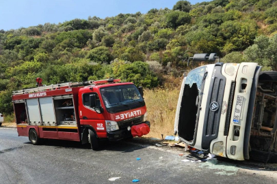
M 276 165 L 252 162 L 181 162 L 173 151 L 103 142 L 92 151 L 78 142 L 49 140 L 32 145 L 16 129 L 0 128 L 0 183 L 276 183 Z M 137 157 L 141 160 L 137 161 Z M 109 181 L 111 177 L 121 177 Z

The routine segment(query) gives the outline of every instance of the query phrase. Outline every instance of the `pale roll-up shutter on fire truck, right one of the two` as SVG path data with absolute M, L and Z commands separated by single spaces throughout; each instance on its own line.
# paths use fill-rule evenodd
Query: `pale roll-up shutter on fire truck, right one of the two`
M 55 123 L 55 112 L 52 97 L 41 97 L 40 112 L 43 123 Z

